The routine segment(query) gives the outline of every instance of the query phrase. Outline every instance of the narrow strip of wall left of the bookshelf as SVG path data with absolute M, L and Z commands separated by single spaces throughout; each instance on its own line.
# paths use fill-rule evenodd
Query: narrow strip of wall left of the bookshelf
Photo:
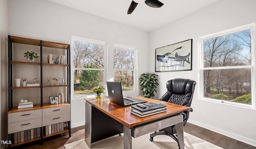
M 7 140 L 8 67 L 7 67 L 7 0 L 0 0 L 0 140 Z M 0 149 L 4 144 L 0 143 Z

